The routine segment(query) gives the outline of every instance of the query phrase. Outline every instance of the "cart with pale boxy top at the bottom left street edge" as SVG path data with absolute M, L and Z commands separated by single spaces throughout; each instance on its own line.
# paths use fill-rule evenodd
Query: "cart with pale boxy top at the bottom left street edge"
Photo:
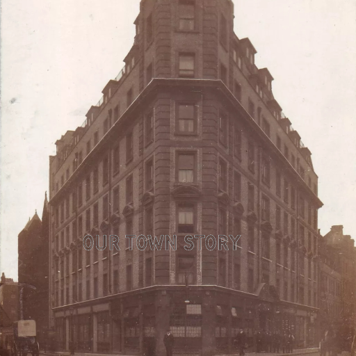
M 40 348 L 36 339 L 36 322 L 34 320 L 20 320 L 13 323 L 14 343 L 13 356 L 40 355 Z

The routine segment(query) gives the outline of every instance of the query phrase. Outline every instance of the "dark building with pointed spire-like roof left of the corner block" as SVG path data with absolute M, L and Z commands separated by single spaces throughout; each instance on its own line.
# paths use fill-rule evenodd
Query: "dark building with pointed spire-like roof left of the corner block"
M 36 322 L 38 342 L 43 345 L 49 321 L 49 207 L 44 197 L 42 220 L 35 212 L 18 236 L 19 319 Z

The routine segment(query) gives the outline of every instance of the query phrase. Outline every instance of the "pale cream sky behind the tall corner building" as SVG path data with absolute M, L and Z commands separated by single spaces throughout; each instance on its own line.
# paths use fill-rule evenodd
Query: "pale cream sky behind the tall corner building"
M 85 120 L 133 44 L 139 0 L 1 1 L 0 272 L 17 280 L 17 235 L 48 190 L 56 140 Z M 356 2 L 235 0 L 234 31 L 319 177 L 321 234 L 356 238 Z

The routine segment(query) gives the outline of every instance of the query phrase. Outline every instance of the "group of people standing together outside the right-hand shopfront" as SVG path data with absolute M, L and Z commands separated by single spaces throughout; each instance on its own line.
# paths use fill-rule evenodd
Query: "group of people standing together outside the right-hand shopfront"
M 256 335 L 257 353 L 293 353 L 294 336 L 291 332 L 258 331 Z

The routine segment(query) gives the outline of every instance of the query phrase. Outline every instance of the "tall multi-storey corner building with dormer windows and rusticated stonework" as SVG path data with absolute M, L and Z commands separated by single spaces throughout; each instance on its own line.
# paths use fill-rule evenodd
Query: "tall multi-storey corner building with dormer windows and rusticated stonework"
M 125 67 L 50 158 L 51 325 L 58 350 L 232 353 L 243 327 L 316 343 L 318 177 L 233 31 L 228 0 L 145 0 Z M 120 236 L 120 252 L 83 249 Z M 177 235 L 133 250 L 125 234 Z M 241 234 L 236 250 L 184 236 Z M 102 242 L 101 242 L 102 244 Z M 74 341 L 74 343 L 72 343 Z

